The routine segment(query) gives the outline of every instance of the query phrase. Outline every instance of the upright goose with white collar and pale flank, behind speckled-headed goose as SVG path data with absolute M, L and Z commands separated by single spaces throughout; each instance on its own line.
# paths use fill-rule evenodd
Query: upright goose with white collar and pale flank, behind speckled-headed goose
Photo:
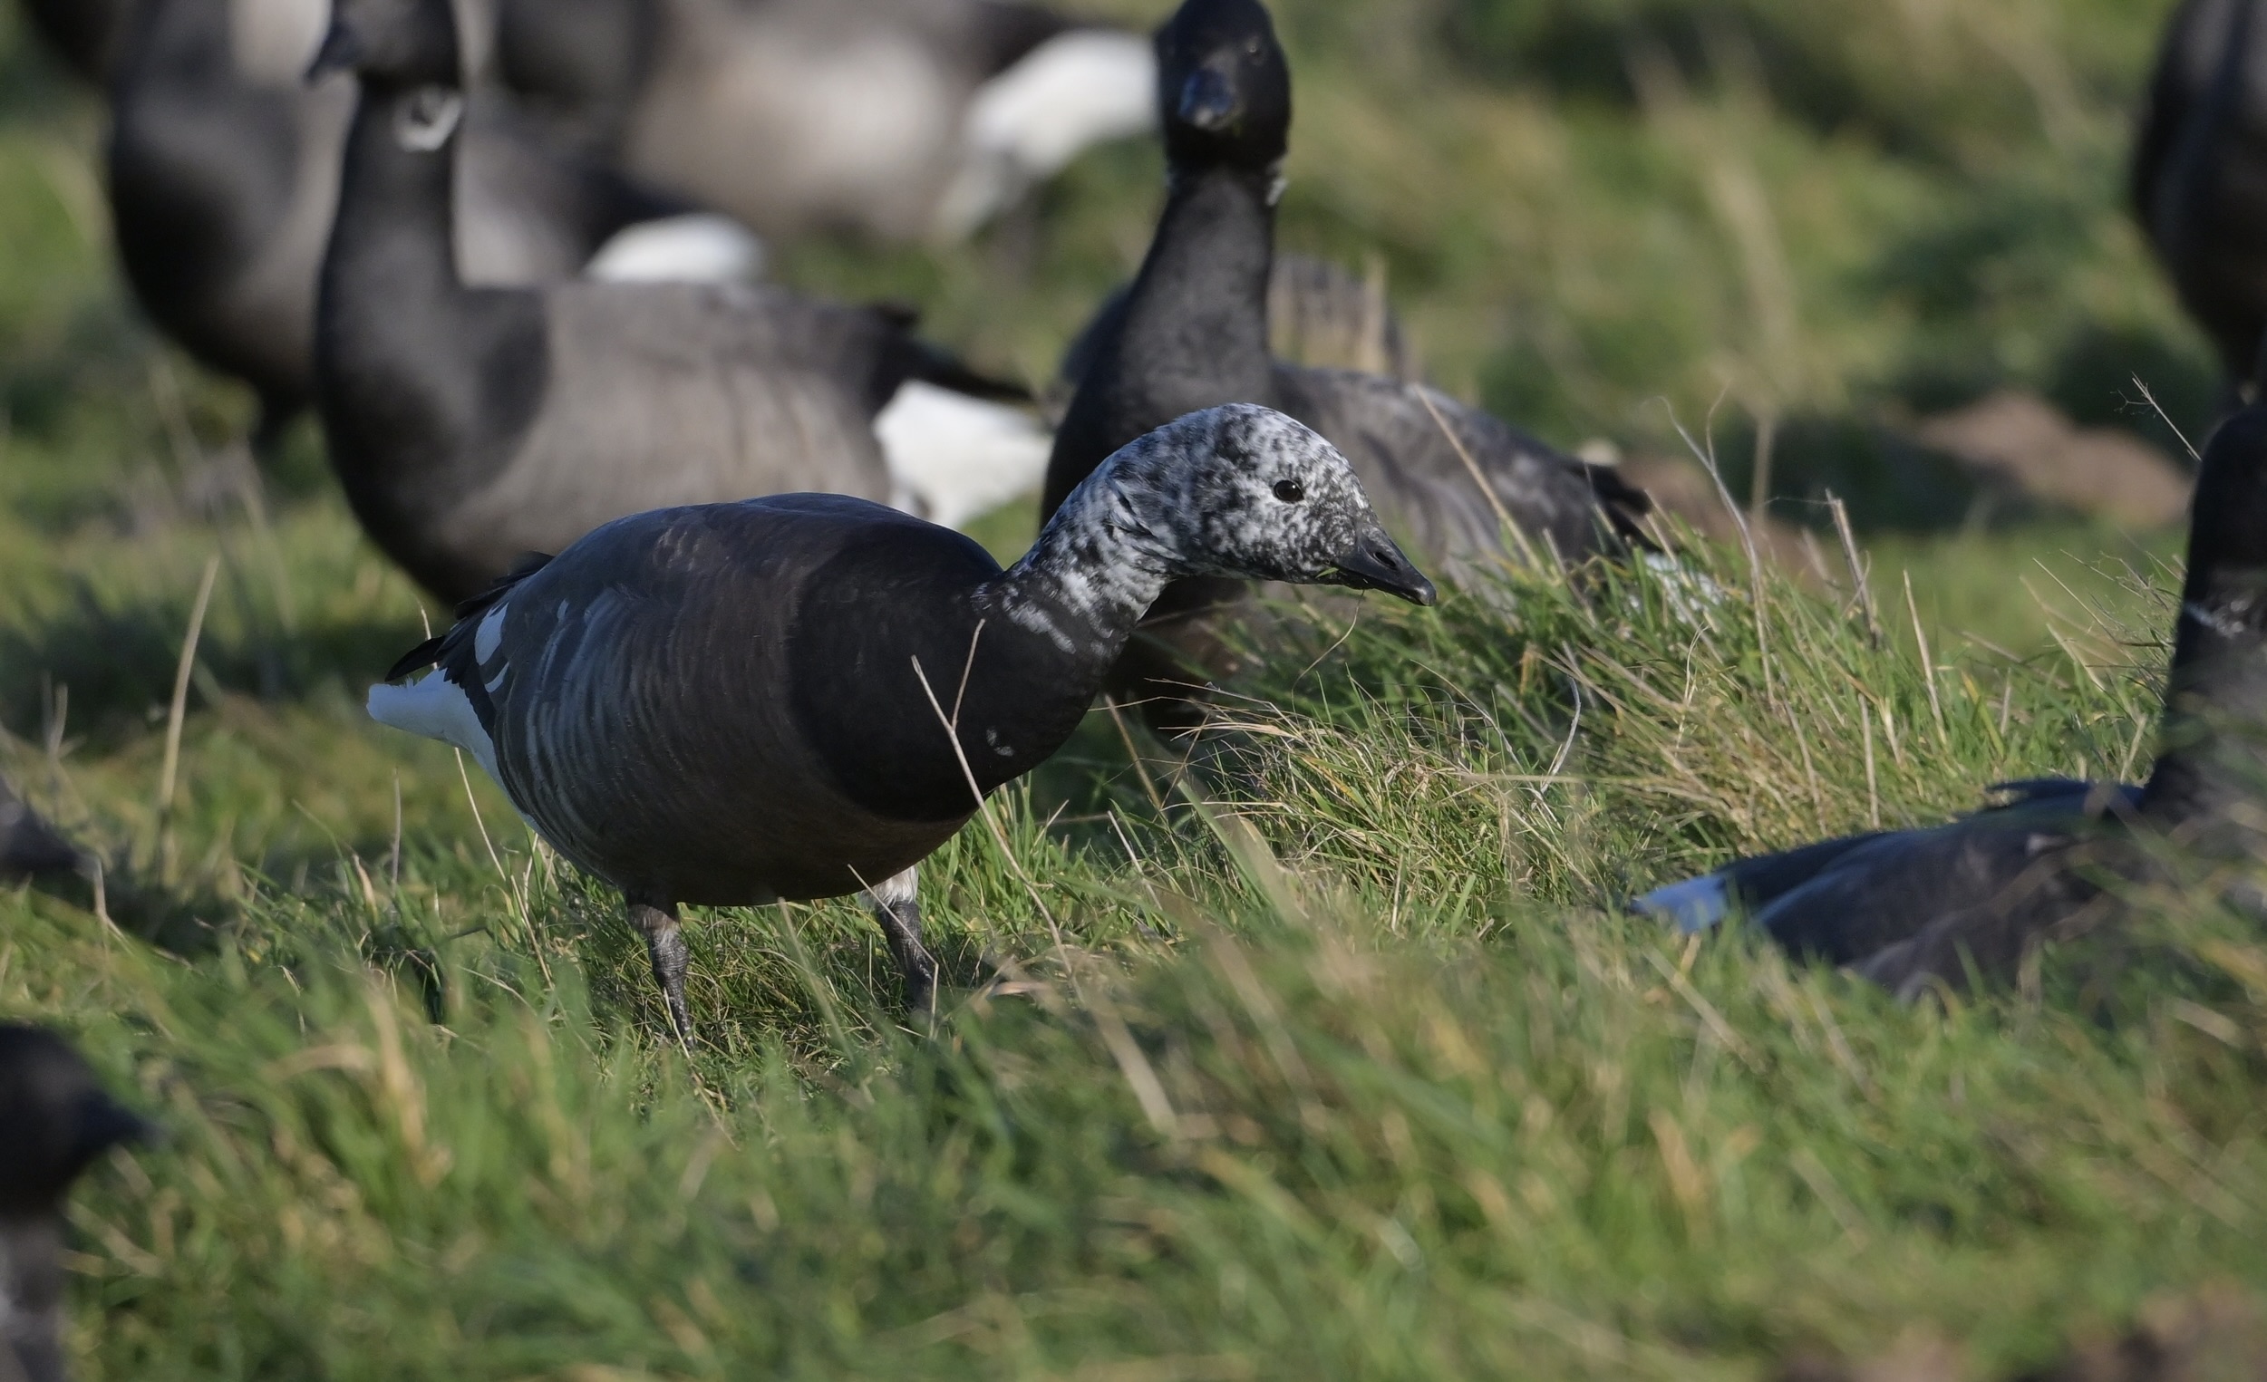
M 317 68 L 342 66 L 360 104 L 322 270 L 322 424 L 363 528 L 449 600 L 651 507 L 891 498 L 875 421 L 907 383 L 968 408 L 959 394 L 1020 396 L 889 308 L 753 283 L 469 288 L 451 258 L 462 95 L 449 2 L 340 0 Z

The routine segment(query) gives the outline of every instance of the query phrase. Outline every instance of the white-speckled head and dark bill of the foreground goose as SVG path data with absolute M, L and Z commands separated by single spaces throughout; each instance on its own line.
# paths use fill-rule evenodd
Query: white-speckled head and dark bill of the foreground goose
M 1353 464 L 1272 408 L 1190 412 L 1129 444 L 1088 483 L 1111 489 L 1109 523 L 1172 575 L 1344 585 L 1417 605 L 1437 598 L 1385 535 Z

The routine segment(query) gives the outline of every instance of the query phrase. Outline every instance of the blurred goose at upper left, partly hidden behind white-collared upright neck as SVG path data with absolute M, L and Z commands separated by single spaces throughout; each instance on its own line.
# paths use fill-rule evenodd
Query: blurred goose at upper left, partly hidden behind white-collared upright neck
M 143 310 L 261 399 L 272 440 L 313 396 L 315 279 L 354 93 L 302 82 L 324 0 L 134 5 L 111 77 L 109 195 Z M 569 276 L 626 224 L 685 204 L 474 100 L 456 254 L 481 283 Z

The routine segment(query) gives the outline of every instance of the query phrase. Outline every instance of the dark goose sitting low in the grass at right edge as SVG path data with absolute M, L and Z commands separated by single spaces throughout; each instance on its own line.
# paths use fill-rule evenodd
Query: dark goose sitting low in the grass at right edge
M 2231 417 L 2197 476 L 2188 578 L 2156 768 L 2145 786 L 2011 784 L 2015 802 L 1929 829 L 1746 859 L 1632 902 L 1703 931 L 1746 915 L 1791 952 L 1913 995 L 1968 965 L 2011 974 L 2083 924 L 2099 879 L 2138 877 L 2140 838 L 2240 856 L 2267 841 L 2267 408 Z

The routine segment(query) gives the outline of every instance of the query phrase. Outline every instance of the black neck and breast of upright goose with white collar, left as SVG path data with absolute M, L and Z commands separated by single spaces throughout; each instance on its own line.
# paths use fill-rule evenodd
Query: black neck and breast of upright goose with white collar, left
M 501 469 L 542 401 L 542 297 L 458 279 L 462 122 L 460 91 L 365 79 L 322 265 L 324 428 L 381 544 Z

